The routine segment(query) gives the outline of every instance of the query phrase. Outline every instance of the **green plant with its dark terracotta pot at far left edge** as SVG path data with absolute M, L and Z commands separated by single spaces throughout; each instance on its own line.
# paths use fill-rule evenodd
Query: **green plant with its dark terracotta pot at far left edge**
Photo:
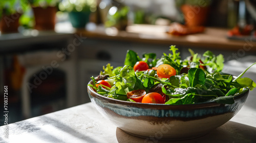
M 26 1 L 1 0 L 0 1 L 0 30 L 2 33 L 18 32 L 19 17 L 28 9 Z

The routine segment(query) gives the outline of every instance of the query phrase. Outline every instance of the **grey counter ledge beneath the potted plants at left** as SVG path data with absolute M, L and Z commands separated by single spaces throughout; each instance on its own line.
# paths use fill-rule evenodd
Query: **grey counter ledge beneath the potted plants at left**
M 31 32 L 32 33 L 32 32 Z M 42 49 L 61 49 L 73 34 L 54 31 L 34 31 L 34 34 L 10 33 L 0 35 L 0 55 Z

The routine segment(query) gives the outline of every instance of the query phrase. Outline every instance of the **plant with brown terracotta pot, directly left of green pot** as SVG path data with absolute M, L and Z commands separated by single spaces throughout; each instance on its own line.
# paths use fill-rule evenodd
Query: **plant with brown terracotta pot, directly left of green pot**
M 28 0 L 34 13 L 36 30 L 54 30 L 59 0 Z

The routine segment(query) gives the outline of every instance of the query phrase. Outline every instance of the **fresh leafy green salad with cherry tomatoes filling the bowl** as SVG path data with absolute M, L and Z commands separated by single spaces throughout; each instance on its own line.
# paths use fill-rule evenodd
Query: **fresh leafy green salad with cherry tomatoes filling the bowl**
M 215 101 L 233 104 L 234 97 L 256 86 L 249 78 L 222 73 L 223 55 L 206 51 L 202 56 L 189 49 L 191 56 L 182 60 L 175 45 L 170 53 L 157 58 L 146 53 L 142 58 L 128 50 L 124 66 L 103 66 L 89 86 L 102 96 L 130 102 L 157 104 L 195 104 Z

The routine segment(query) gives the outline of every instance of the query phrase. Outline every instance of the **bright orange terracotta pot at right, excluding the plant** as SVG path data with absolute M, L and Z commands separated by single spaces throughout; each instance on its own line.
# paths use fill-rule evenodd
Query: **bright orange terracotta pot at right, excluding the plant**
M 204 26 L 207 21 L 209 7 L 183 5 L 181 10 L 184 14 L 186 25 L 189 27 Z

